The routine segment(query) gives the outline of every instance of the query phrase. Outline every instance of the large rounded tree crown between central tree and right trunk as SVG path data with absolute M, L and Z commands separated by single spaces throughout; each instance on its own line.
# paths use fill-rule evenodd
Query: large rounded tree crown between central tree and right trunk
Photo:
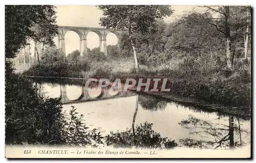
M 203 14 L 207 21 L 211 15 Z M 196 57 L 223 53 L 225 39 L 216 28 L 195 13 L 187 13 L 180 19 L 168 24 L 166 31 L 165 52 L 169 57 L 180 55 L 193 55 Z

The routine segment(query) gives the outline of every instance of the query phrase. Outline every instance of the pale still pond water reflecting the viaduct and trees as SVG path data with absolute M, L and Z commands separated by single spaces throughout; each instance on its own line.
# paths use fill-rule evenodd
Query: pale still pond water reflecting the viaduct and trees
M 208 113 L 149 95 L 79 85 L 41 83 L 40 91 L 46 97 L 61 97 L 63 112 L 75 106 L 84 115 L 87 126 L 98 128 L 103 135 L 132 128 L 138 98 L 135 125 L 153 123 L 153 129 L 161 137 L 175 140 L 179 146 L 227 148 L 232 142 L 236 147 L 250 145 L 249 118 Z

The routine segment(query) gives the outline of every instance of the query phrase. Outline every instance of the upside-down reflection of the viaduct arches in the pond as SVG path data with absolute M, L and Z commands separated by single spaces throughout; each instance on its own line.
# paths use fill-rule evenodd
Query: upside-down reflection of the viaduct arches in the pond
M 67 86 L 66 85 L 60 85 L 60 102 L 63 104 L 68 104 L 68 103 L 76 103 L 76 102 L 85 102 L 85 101 L 93 101 L 93 100 L 104 100 L 104 99 L 111 99 L 111 98 L 116 98 L 116 97 L 128 97 L 132 96 L 133 94 L 131 92 L 123 92 L 123 91 L 118 91 L 117 94 L 111 95 L 110 89 L 108 88 L 101 88 L 101 93 L 96 96 L 96 97 L 91 97 L 89 94 L 89 88 L 88 87 L 81 87 L 81 95 L 75 99 L 75 100 L 70 100 L 67 96 Z

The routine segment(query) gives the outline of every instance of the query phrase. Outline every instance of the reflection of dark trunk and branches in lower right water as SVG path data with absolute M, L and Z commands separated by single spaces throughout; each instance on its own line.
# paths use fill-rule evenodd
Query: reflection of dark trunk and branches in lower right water
M 189 115 L 187 120 L 179 122 L 190 134 L 198 135 L 201 140 L 180 139 L 183 146 L 194 148 L 234 148 L 246 145 L 242 141 L 242 135 L 249 131 L 241 129 L 239 119 L 237 123 L 234 116 L 228 117 L 228 125 L 212 123 Z

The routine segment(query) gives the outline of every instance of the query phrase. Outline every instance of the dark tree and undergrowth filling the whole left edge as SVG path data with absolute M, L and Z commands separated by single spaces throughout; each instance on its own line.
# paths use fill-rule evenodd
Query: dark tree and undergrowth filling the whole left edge
M 6 6 L 6 59 L 15 58 L 28 38 L 31 26 L 45 22 L 52 6 Z M 13 73 L 6 60 L 6 144 L 52 143 L 61 140 L 61 103 L 58 99 L 44 99 L 28 78 Z M 46 125 L 47 124 L 47 125 Z

